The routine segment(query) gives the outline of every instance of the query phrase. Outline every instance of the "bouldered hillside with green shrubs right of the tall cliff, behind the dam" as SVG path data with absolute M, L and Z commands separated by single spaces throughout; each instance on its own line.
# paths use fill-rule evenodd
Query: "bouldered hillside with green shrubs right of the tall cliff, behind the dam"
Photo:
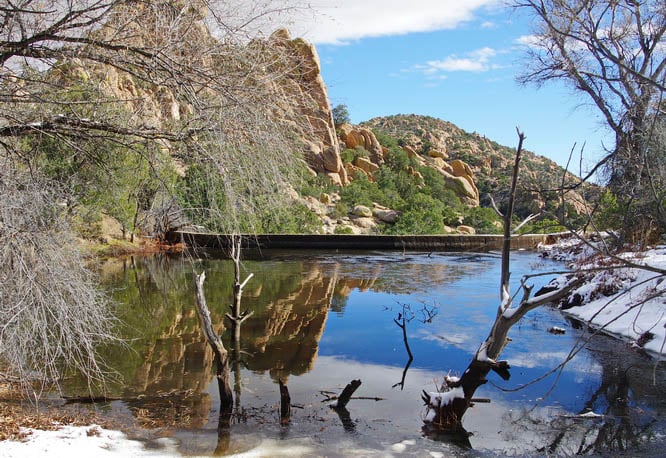
M 337 126 L 346 182 L 316 175 L 300 190 L 321 221 L 312 230 L 354 234 L 498 233 L 502 224 L 491 197 L 502 209 L 509 192 L 515 150 L 446 121 L 426 116 L 374 118 Z M 314 172 L 314 171 L 313 171 Z M 515 216 L 541 215 L 527 231 L 554 232 L 562 216 L 576 226 L 586 204 L 557 191 L 577 178 L 553 161 L 525 152 Z M 590 187 L 585 188 L 591 191 Z M 562 205 L 564 202 L 564 205 Z

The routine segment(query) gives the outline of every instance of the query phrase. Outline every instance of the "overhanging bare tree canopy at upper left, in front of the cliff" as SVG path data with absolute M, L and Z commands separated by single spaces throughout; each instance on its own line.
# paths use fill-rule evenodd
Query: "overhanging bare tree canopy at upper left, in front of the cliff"
M 92 160 L 100 141 L 157 142 L 220 178 L 222 207 L 214 201 L 202 210 L 235 215 L 257 196 L 278 200 L 298 168 L 280 113 L 298 97 L 276 86 L 292 70 L 282 51 L 250 40 L 246 29 L 293 7 L 242 3 L 7 3 L 0 8 L 4 153 L 34 161 L 36 148 L 22 137 L 55 139 Z

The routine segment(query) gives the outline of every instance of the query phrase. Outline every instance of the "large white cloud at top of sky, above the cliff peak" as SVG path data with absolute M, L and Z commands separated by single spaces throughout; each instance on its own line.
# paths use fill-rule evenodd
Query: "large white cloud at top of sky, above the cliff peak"
M 499 0 L 314 0 L 296 16 L 274 17 L 272 26 L 289 27 L 293 36 L 315 44 L 344 44 L 365 37 L 453 29 L 475 11 Z

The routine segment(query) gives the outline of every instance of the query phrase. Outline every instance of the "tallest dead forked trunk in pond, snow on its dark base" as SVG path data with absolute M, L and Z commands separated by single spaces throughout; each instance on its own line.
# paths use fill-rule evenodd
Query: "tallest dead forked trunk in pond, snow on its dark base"
M 518 139 L 508 208 L 506 213 L 501 215 L 504 220 L 504 240 L 502 244 L 500 305 L 497 309 L 497 316 L 490 334 L 476 351 L 463 375 L 460 378 L 446 377 L 439 392 L 423 392 L 423 400 L 428 409 L 424 420 L 424 430 L 426 434 L 431 436 L 441 434 L 452 440 L 456 439 L 456 435 L 466 436 L 467 433 L 462 426 L 462 418 L 467 409 L 473 405 L 473 397 L 477 388 L 487 382 L 486 376 L 488 373 L 492 370 L 504 380 L 508 380 L 510 377 L 508 362 L 498 361 L 498 358 L 509 341 L 508 334 L 511 327 L 530 310 L 547 303 L 557 302 L 575 286 L 569 284 L 561 289 L 530 297 L 533 287 L 527 285 L 523 279 L 521 281 L 522 297 L 518 305 L 513 305 L 513 297 L 509 287 L 509 256 L 511 254 L 511 220 L 518 182 L 518 169 L 523 141 L 525 140 L 525 135 L 520 131 L 518 131 Z

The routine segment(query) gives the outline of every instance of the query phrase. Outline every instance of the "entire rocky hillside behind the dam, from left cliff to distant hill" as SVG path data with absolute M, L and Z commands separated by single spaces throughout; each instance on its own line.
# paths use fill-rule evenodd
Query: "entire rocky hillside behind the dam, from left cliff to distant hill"
M 148 21 L 146 27 L 145 11 L 134 13 L 132 42 L 149 46 L 151 27 L 160 23 Z M 69 56 L 40 74 L 40 84 L 24 87 L 35 98 L 51 88 L 55 102 L 46 106 L 50 111 L 26 111 L 20 126 L 9 129 L 23 137 L 16 150 L 69 190 L 60 201 L 78 235 L 159 239 L 182 227 L 254 233 L 499 231 L 487 196 L 502 206 L 512 148 L 425 116 L 336 126 L 312 44 L 280 29 L 267 39 L 228 47 L 210 34 L 196 10 L 187 14 L 189 40 L 224 51 L 208 59 L 188 42 L 177 43 L 178 52 L 191 57 L 181 69 L 190 72 L 188 84 L 205 98 L 184 90 L 189 86 L 171 74 L 137 75 L 132 65 Z M 201 82 L 198 68 L 204 64 L 209 78 Z M 517 214 L 555 214 L 559 197 L 540 190 L 556 188 L 563 173 L 552 161 L 527 153 Z M 567 200 L 568 210 L 583 208 L 579 196 Z

